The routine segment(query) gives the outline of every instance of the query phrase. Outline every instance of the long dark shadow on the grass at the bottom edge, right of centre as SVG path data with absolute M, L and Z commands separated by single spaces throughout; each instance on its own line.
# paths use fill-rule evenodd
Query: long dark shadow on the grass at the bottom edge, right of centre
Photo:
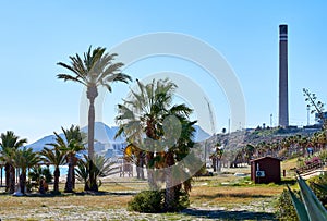
M 184 209 L 184 214 L 213 220 L 278 220 L 274 213 L 252 211 L 227 211 L 227 210 L 204 210 Z

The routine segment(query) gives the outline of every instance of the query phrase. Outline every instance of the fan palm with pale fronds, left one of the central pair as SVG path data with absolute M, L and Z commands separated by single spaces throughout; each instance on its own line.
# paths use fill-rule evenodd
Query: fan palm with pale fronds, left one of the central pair
M 153 170 L 154 163 L 154 145 L 145 145 L 150 140 L 159 140 L 160 126 L 162 126 L 164 116 L 171 106 L 172 94 L 177 88 L 168 78 L 155 81 L 144 85 L 136 79 L 138 91 L 131 91 L 129 100 L 123 105 L 118 105 L 118 116 L 116 121 L 119 125 L 117 137 L 124 133 L 128 139 L 136 147 L 146 152 L 147 179 L 150 188 L 156 188 Z M 146 139 L 144 137 L 146 136 Z M 150 149 L 148 149 L 150 148 Z M 150 169 L 150 170 L 149 170 Z

